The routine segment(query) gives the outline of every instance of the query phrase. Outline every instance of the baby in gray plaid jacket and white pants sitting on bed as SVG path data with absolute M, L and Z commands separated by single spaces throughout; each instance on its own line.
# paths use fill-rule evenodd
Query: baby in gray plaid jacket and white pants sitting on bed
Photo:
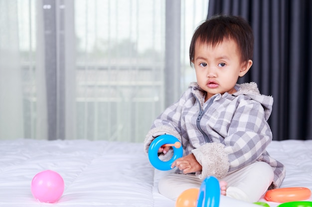
M 194 32 L 189 58 L 197 82 L 155 120 L 145 139 L 145 151 L 160 135 L 178 138 L 183 157 L 159 180 L 159 192 L 172 199 L 189 188 L 199 188 L 207 176 L 220 182 L 221 194 L 257 202 L 281 185 L 282 163 L 266 147 L 272 140 L 267 121 L 273 98 L 261 95 L 254 82 L 237 84 L 252 66 L 253 32 L 243 18 L 214 16 Z M 172 156 L 159 148 L 159 158 Z

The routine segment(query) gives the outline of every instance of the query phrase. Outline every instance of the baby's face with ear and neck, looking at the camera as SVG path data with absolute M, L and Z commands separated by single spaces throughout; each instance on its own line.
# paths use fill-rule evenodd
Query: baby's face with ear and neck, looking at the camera
M 234 86 L 237 79 L 248 71 L 252 65 L 250 62 L 241 62 L 237 44 L 233 40 L 223 40 L 214 47 L 197 41 L 193 64 L 197 83 L 207 92 L 205 101 L 217 93 L 236 92 Z

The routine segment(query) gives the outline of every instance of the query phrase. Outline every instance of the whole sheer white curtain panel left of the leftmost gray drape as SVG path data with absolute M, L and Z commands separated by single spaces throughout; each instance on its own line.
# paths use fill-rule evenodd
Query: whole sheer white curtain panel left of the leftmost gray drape
M 47 138 L 40 20 L 34 0 L 0 0 L 0 139 Z

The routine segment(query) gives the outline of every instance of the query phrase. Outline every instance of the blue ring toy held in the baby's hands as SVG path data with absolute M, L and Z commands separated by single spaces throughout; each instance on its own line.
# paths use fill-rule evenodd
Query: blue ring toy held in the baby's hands
M 174 144 L 175 142 L 179 141 L 177 138 L 173 137 L 172 135 L 161 135 L 155 138 L 150 147 L 149 147 L 149 159 L 151 164 L 158 170 L 171 170 L 171 165 L 177 158 L 182 157 L 183 149 L 182 146 L 173 148 L 173 156 L 168 161 L 162 161 L 158 157 L 158 149 L 163 144 Z

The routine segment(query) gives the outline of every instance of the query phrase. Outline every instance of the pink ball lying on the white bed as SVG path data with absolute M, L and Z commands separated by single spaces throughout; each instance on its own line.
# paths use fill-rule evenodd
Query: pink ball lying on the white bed
M 31 181 L 31 193 L 39 202 L 55 203 L 64 192 L 64 180 L 52 170 L 36 174 Z

